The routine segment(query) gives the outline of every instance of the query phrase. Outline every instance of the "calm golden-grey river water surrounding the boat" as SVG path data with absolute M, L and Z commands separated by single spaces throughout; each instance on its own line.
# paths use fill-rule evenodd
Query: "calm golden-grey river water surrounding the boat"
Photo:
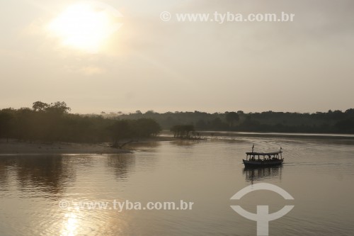
M 353 138 L 226 133 L 135 145 L 132 154 L 3 155 L 0 235 L 257 235 L 234 205 L 294 206 L 268 223 L 269 235 L 353 235 Z M 253 143 L 259 152 L 282 147 L 285 164 L 244 169 Z M 268 190 L 230 199 L 261 183 L 294 200 Z M 165 202 L 179 210 L 145 208 Z

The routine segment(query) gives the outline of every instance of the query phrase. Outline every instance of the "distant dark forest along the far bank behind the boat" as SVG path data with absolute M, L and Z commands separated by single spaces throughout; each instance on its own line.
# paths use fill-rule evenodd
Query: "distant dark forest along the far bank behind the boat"
M 104 115 L 104 114 L 103 114 Z M 105 114 L 111 116 L 112 114 Z M 354 134 L 354 109 L 316 113 L 290 113 L 265 111 L 244 113 L 167 112 L 122 114 L 122 119 L 152 118 L 164 130 L 175 125 L 193 125 L 195 130 L 279 132 L 279 133 L 350 133 Z

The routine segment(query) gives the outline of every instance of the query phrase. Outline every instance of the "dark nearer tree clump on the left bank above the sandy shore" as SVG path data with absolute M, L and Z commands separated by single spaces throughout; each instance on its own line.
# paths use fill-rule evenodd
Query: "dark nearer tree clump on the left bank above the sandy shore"
M 0 138 L 45 142 L 122 143 L 157 135 L 161 127 L 152 118 L 126 120 L 121 117 L 84 116 L 69 113 L 64 101 L 36 101 L 32 108 L 0 110 Z M 122 142 L 122 143 L 121 143 Z

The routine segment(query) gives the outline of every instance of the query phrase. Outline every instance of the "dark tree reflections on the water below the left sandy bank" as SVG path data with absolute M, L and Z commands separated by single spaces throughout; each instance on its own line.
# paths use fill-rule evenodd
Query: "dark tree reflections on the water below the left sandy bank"
M 76 172 L 100 169 L 101 157 L 91 155 L 16 155 L 0 157 L 0 187 L 12 185 L 22 192 L 58 196 L 76 182 Z M 135 167 L 132 154 L 108 154 L 106 165 L 118 180 L 127 179 Z M 94 169 L 93 169 L 94 168 Z M 81 173 L 80 172 L 80 173 Z

